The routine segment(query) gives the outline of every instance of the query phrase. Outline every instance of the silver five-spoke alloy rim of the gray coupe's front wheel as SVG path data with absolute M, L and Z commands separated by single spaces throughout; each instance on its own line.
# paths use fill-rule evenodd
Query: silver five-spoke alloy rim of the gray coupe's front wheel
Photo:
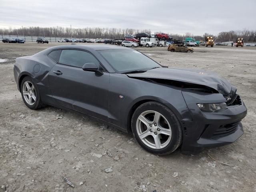
M 138 116 L 136 131 L 140 140 L 152 149 L 162 149 L 172 139 L 172 129 L 168 120 L 153 110 L 144 111 Z

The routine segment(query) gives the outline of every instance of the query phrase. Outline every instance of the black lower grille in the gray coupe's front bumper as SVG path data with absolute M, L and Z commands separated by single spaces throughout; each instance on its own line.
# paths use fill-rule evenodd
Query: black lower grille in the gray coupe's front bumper
M 237 130 L 239 123 L 240 121 L 220 126 L 214 132 L 212 138 L 220 138 L 234 133 Z

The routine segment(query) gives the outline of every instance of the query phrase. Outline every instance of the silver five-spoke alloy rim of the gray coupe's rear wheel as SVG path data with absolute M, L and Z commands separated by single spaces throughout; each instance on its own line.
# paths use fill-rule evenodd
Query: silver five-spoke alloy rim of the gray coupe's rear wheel
M 30 81 L 25 81 L 22 86 L 22 94 L 24 100 L 29 105 L 34 105 L 36 102 L 36 90 Z

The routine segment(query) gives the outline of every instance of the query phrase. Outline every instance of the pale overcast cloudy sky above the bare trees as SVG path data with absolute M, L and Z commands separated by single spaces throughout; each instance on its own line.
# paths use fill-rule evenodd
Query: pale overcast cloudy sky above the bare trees
M 256 30 L 256 0 L 0 0 L 0 28 L 62 26 L 218 34 Z

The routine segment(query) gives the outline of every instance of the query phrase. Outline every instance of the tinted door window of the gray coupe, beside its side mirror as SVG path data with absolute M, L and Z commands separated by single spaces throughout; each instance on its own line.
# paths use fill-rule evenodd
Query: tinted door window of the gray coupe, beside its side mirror
M 80 50 L 62 50 L 59 62 L 79 68 L 86 63 L 99 65 L 98 60 L 92 54 Z

